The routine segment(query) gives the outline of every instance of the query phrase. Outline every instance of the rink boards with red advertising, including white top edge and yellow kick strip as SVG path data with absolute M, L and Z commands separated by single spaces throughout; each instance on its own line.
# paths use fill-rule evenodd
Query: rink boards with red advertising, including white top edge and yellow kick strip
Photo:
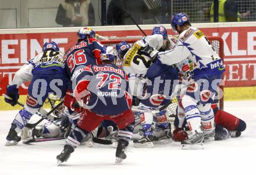
M 155 25 L 141 25 L 146 34 L 151 34 Z M 168 34 L 173 34 L 170 24 Z M 224 41 L 225 100 L 256 99 L 256 22 L 243 23 L 198 23 L 193 24 L 207 36 L 219 36 Z M 136 26 L 92 27 L 98 34 L 109 37 L 141 36 Z M 46 41 L 55 41 L 65 52 L 76 43 L 79 27 L 19 28 L 0 30 L 0 95 L 6 93 L 6 85 L 12 81 L 17 70 L 26 61 L 42 50 Z M 19 88 L 21 95 L 27 94 L 28 83 Z M 232 88 L 231 88 L 232 87 Z M 233 88 L 243 87 L 243 88 Z M 245 91 L 244 91 L 245 90 Z M 237 93 L 239 91 L 239 93 Z M 8 109 L 3 107 L 0 109 Z

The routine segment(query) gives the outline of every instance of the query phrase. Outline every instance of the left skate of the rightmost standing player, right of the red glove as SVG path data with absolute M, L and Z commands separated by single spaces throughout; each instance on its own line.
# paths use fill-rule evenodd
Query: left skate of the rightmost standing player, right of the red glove
M 189 135 L 189 139 L 181 142 L 182 149 L 204 149 L 204 133 L 198 133 L 195 130 L 194 134 Z

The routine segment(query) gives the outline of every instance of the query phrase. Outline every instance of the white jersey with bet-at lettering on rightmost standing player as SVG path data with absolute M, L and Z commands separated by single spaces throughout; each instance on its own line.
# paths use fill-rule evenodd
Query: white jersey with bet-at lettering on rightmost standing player
M 183 31 L 178 37 L 175 48 L 158 53 L 158 59 L 166 65 L 179 63 L 186 58 L 195 63 L 195 76 L 224 72 L 222 59 L 212 48 L 211 42 L 198 28 L 190 27 Z

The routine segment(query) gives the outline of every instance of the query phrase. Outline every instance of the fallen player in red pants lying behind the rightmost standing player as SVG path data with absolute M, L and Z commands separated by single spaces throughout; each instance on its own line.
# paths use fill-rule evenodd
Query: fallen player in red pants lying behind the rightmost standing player
M 215 121 L 215 140 L 225 140 L 230 137 L 239 137 L 241 132 L 246 130 L 246 122 L 239 119 L 232 114 L 218 109 L 218 106 L 212 105 L 214 109 Z M 173 131 L 173 140 L 184 141 L 187 139 L 186 119 L 184 118 L 184 111 L 177 110 L 175 117 L 175 130 Z

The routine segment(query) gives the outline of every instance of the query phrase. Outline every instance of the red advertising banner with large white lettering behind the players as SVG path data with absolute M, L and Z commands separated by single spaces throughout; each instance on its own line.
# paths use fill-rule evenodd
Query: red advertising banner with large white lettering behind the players
M 225 87 L 256 85 L 256 27 L 201 28 L 208 36 L 219 36 L 224 41 Z M 97 30 L 96 30 L 97 31 Z M 102 36 L 138 36 L 139 30 L 98 31 Z M 145 30 L 151 34 L 151 30 Z M 168 34 L 173 34 L 168 30 Z M 42 51 L 44 42 L 55 41 L 65 52 L 76 43 L 76 32 L 0 34 L 0 94 L 12 81 L 17 70 Z M 20 88 L 26 94 L 27 84 Z

